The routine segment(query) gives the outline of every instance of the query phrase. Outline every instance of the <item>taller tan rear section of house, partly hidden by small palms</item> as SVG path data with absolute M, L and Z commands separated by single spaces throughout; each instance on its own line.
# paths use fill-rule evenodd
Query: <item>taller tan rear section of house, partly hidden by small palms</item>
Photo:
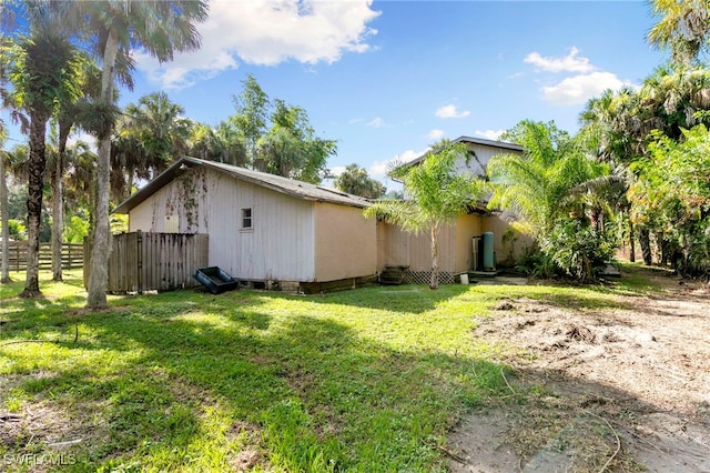
M 521 154 L 518 144 L 491 141 L 480 138 L 459 137 L 455 142 L 465 143 L 470 150 L 468 160 L 460 157 L 456 163 L 457 172 L 470 173 L 478 177 L 486 175 L 486 165 L 490 158 L 497 154 Z M 425 160 L 424 154 L 410 164 L 416 165 Z M 406 189 L 405 189 L 406 199 Z M 486 232 L 493 233 L 493 250 L 495 266 L 511 263 L 530 241 L 527 236 L 515 232 L 509 224 L 509 218 L 501 212 L 489 212 L 486 202 L 480 202 L 476 209 L 469 209 L 455 223 L 442 230 L 439 235 L 439 271 L 443 283 L 454 282 L 465 272 L 481 271 L 479 239 Z M 430 236 L 428 232 L 410 234 L 396 227 L 381 223 L 377 234 L 378 266 L 406 268 L 405 281 L 427 283 L 432 269 Z

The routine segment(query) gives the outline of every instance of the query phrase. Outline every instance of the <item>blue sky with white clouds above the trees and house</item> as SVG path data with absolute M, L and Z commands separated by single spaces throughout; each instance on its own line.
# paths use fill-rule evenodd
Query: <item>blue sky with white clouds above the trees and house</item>
M 216 0 L 202 49 L 162 66 L 136 51 L 120 102 L 164 90 L 216 124 L 251 73 L 337 140 L 331 168 L 392 184 L 387 163 L 440 138 L 495 139 L 524 119 L 575 132 L 589 98 L 667 59 L 646 42 L 656 21 L 645 1 Z

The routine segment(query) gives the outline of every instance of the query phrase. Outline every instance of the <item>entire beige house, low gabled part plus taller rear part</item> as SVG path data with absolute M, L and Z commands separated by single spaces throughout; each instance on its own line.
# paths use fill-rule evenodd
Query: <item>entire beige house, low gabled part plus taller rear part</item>
M 462 137 L 471 151 L 458 172 L 485 174 L 499 153 L 516 144 Z M 426 155 L 414 161 L 426 159 Z M 418 235 L 365 219 L 367 199 L 306 182 L 213 161 L 182 158 L 149 182 L 115 213 L 129 214 L 130 232 L 209 234 L 209 265 L 240 281 L 312 292 L 374 280 L 387 266 L 406 269 L 405 281 L 426 283 L 432 258 L 428 233 Z M 493 233 L 495 265 L 527 241 L 499 212 L 481 202 L 439 236 L 440 282 L 455 282 L 480 268 L 477 243 Z

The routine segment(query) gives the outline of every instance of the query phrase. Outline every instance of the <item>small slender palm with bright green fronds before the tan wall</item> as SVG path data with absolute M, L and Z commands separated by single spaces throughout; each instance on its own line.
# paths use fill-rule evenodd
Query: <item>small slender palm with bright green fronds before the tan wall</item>
M 456 161 L 468 157 L 463 143 L 440 142 L 418 165 L 399 167 L 395 175 L 403 180 L 408 199 L 379 201 L 365 209 L 365 217 L 383 218 L 405 231 L 428 230 L 432 238 L 430 289 L 437 289 L 438 236 L 445 224 L 452 223 L 466 208 L 480 200 L 485 183 L 467 174 L 456 173 Z

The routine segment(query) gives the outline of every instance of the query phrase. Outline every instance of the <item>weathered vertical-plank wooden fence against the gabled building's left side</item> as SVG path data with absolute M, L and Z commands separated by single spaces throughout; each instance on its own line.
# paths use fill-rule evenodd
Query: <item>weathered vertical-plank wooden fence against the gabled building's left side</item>
M 193 233 L 121 233 L 112 238 L 109 292 L 169 291 L 195 286 L 197 268 L 207 265 L 209 235 Z M 91 254 L 91 242 L 84 241 Z M 91 276 L 84 265 L 84 285 Z

